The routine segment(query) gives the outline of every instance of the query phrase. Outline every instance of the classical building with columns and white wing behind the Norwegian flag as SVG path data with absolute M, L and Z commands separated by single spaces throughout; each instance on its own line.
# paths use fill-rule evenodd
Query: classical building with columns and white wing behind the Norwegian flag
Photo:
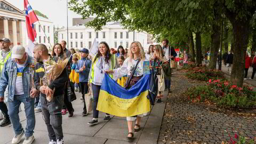
M 39 17 L 39 23 L 36 22 L 36 42 L 43 43 L 48 48 L 53 46 L 53 22 L 49 19 Z M 45 31 L 45 34 L 43 33 Z M 25 22 L 25 13 L 13 6 L 11 3 L 0 0 L 0 39 L 7 37 L 11 40 L 12 45 L 28 46 L 28 35 Z M 47 41 L 49 39 L 50 41 Z

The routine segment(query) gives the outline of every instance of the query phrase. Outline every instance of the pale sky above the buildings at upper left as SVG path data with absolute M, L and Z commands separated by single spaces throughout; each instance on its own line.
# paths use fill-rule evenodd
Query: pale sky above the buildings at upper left
M 5 0 L 12 5 L 24 10 L 23 0 Z M 66 0 L 28 0 L 33 10 L 45 14 L 56 27 L 67 27 L 67 1 Z M 68 10 L 68 26 L 72 26 L 73 18 L 81 18 L 80 15 Z

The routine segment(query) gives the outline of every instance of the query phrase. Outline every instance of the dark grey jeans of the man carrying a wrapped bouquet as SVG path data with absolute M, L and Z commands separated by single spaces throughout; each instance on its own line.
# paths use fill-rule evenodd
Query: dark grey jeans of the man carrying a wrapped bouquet
M 49 102 L 45 97 L 40 96 L 42 102 L 43 119 L 47 127 L 50 141 L 63 139 L 61 108 L 64 95 L 53 97 Z

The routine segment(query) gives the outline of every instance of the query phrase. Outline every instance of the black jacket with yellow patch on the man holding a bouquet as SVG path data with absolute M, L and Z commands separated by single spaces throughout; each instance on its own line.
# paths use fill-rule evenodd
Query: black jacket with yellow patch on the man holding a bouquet
M 43 62 L 38 62 L 36 63 L 35 66 L 35 73 L 34 73 L 34 84 L 36 87 L 36 90 L 39 91 L 41 85 L 40 85 L 40 79 L 43 78 L 44 76 L 44 65 Z M 53 97 L 57 96 L 57 95 L 61 95 L 64 94 L 64 90 L 65 90 L 65 85 L 68 81 L 68 74 L 67 74 L 67 70 L 66 68 L 62 71 L 61 75 L 56 78 L 54 81 L 51 82 L 51 84 L 49 84 L 48 86 L 50 87 L 50 89 L 54 89 L 55 87 L 55 92 L 53 94 Z M 45 94 L 41 94 L 45 97 Z

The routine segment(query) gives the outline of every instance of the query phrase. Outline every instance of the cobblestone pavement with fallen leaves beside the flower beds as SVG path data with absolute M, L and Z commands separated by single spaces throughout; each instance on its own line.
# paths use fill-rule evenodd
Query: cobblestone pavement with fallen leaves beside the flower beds
M 256 110 L 243 109 L 222 113 L 222 109 L 198 105 L 181 97 L 187 87 L 198 85 L 174 72 L 172 93 L 167 98 L 165 114 L 158 143 L 221 143 L 238 133 L 256 137 Z M 229 109 L 228 109 L 229 110 Z M 245 115 L 238 115 L 244 113 Z M 233 131 L 233 132 L 231 132 Z

